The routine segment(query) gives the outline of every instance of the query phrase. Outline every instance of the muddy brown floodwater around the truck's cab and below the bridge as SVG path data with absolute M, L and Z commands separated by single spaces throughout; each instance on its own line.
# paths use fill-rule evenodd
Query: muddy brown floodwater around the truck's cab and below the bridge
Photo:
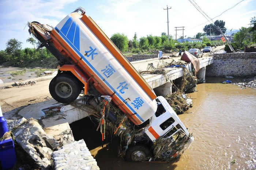
M 210 82 L 210 81 L 209 81 Z M 256 90 L 233 84 L 204 83 L 191 94 L 193 107 L 179 115 L 195 138 L 191 147 L 171 163 L 125 162 L 117 157 L 117 141 L 101 148 L 101 137 L 91 135 L 83 122 L 78 133 L 101 170 L 253 170 L 256 169 Z M 97 125 L 94 125 L 94 127 Z M 76 126 L 72 125 L 76 140 Z M 97 128 L 97 127 L 96 127 Z M 90 128 L 92 129 L 92 128 Z M 99 132 L 96 132 L 99 133 Z M 236 163 L 231 163 L 236 160 Z

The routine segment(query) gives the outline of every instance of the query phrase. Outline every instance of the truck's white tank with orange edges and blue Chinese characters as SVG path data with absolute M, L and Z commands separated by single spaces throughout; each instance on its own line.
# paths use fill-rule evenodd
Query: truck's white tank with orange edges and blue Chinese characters
M 73 12 L 47 31 L 51 37 L 48 43 L 71 58 L 90 84 L 102 95 L 110 95 L 134 124 L 142 124 L 157 110 L 153 89 L 84 13 Z

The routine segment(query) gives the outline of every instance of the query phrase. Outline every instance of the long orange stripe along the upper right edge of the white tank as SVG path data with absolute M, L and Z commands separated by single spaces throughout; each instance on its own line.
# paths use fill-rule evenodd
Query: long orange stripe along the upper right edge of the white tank
M 77 15 L 72 13 L 72 15 Z M 74 17 L 75 18 L 75 17 Z M 105 33 L 99 28 L 99 26 L 93 21 L 93 19 L 82 16 L 82 21 L 86 23 L 86 26 L 96 35 L 96 37 L 102 42 L 103 45 L 113 54 L 113 56 L 121 63 L 121 65 L 128 71 L 128 73 L 133 77 L 133 79 L 142 87 L 142 89 L 147 93 L 147 95 L 154 100 L 157 96 L 154 94 L 153 89 L 148 85 L 148 83 L 142 78 L 142 76 L 136 71 L 132 64 L 125 58 L 121 51 L 114 45 L 114 43 L 106 36 Z

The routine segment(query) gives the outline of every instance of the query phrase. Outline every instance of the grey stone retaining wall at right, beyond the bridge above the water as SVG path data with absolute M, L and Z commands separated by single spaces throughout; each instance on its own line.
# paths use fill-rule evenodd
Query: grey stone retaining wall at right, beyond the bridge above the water
M 256 53 L 214 54 L 214 63 L 206 67 L 206 76 L 256 75 Z

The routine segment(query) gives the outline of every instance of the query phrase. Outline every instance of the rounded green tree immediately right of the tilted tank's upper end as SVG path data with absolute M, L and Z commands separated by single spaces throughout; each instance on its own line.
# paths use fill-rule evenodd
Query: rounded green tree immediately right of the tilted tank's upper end
M 112 35 L 112 37 L 110 39 L 117 46 L 117 48 L 120 49 L 121 51 L 128 50 L 128 38 L 126 35 L 116 33 L 116 34 Z

